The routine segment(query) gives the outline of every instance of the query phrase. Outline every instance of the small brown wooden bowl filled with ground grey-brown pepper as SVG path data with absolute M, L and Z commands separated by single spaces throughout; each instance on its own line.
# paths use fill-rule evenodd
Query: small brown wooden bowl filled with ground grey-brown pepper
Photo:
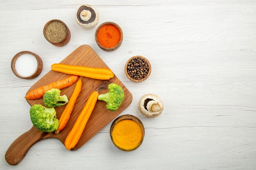
M 43 34 L 45 39 L 55 46 L 65 46 L 71 38 L 70 30 L 61 20 L 48 21 L 44 26 Z

